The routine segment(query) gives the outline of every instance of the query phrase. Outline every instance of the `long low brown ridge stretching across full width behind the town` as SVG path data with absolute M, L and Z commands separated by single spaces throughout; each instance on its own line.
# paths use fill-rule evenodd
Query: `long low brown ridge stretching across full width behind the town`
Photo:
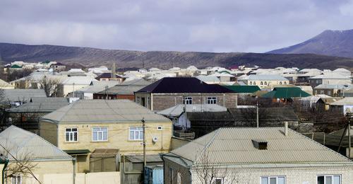
M 232 65 L 258 65 L 263 68 L 299 67 L 353 69 L 353 59 L 328 57 L 316 54 L 259 54 L 259 53 L 214 53 L 174 51 L 128 51 L 101 50 L 89 47 L 65 47 L 56 45 L 23 45 L 0 43 L 0 56 L 5 62 L 23 60 L 42 62 L 51 60 L 65 64 L 82 64 L 86 67 L 111 65 L 117 68 L 160 67 L 229 67 Z

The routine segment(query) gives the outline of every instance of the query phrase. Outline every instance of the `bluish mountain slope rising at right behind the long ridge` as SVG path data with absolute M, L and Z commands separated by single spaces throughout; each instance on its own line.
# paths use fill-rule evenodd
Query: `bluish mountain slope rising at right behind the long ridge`
M 297 45 L 273 50 L 272 54 L 323 54 L 353 58 L 353 30 L 325 30 Z

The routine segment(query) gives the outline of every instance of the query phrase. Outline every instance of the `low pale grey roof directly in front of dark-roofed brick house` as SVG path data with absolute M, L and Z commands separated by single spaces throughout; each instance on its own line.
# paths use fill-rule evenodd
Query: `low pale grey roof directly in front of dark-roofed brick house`
M 186 107 L 186 112 L 225 112 L 227 108 L 222 107 L 217 104 L 179 104 L 172 108 L 167 108 L 157 112 L 160 115 L 167 116 L 179 116 L 184 113 L 184 107 Z

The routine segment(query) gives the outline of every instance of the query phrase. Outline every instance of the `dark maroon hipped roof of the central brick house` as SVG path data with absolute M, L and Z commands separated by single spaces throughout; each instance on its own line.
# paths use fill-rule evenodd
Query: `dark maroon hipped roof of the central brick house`
M 234 93 L 217 85 L 205 84 L 194 77 L 164 77 L 137 92 L 147 93 Z

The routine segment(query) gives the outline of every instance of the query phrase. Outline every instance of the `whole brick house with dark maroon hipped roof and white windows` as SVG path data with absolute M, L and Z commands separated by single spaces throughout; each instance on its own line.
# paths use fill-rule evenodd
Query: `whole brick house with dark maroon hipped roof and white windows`
M 193 77 L 165 77 L 135 92 L 135 101 L 150 110 L 164 110 L 178 104 L 217 104 L 237 107 L 237 94 L 217 84 Z

